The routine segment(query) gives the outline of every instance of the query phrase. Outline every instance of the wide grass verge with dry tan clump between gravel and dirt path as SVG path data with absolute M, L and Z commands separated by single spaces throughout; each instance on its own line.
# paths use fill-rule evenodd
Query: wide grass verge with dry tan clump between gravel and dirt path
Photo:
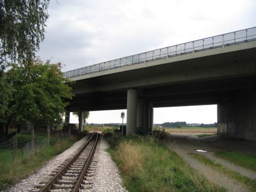
M 109 137 L 109 153 L 124 186 L 133 191 L 226 191 L 195 172 L 182 158 L 152 137 Z

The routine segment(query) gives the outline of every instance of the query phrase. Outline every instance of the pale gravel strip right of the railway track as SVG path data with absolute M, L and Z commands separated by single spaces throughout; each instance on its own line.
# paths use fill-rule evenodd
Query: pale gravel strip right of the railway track
M 95 152 L 97 164 L 94 166 L 94 177 L 89 178 L 93 183 L 90 189 L 81 191 L 127 191 L 122 187 L 123 180 L 120 177 L 117 166 L 112 161 L 110 154 L 106 152 L 107 148 L 107 141 L 104 137 L 101 137 Z

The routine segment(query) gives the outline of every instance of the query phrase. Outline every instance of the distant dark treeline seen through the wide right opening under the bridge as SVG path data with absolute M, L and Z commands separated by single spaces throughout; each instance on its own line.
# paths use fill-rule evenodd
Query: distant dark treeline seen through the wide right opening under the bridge
M 159 124 L 163 127 L 217 127 L 217 123 L 211 123 L 211 124 L 197 124 L 197 123 L 192 123 L 192 124 L 187 124 L 186 122 L 165 122 L 163 124 Z

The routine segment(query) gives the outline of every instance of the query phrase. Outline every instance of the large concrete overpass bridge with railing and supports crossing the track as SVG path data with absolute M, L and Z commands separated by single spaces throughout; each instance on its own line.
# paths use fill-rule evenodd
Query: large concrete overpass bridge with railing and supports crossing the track
M 217 104 L 218 134 L 256 140 L 255 40 L 256 27 L 67 71 L 68 110 L 127 108 L 136 134 L 153 129 L 155 107 Z

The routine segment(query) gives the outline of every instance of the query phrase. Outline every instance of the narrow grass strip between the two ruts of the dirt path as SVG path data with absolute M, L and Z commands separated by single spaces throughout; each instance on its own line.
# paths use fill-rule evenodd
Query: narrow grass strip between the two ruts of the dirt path
M 204 163 L 207 166 L 212 167 L 213 169 L 227 175 L 229 178 L 236 179 L 238 182 L 242 183 L 247 188 L 250 188 L 252 191 L 256 191 L 256 180 L 252 180 L 250 178 L 247 178 L 246 176 L 233 171 L 226 166 L 223 166 L 219 163 L 213 162 L 211 159 L 205 157 L 201 154 L 190 154 L 191 157 L 194 159 L 197 159 L 199 162 Z

